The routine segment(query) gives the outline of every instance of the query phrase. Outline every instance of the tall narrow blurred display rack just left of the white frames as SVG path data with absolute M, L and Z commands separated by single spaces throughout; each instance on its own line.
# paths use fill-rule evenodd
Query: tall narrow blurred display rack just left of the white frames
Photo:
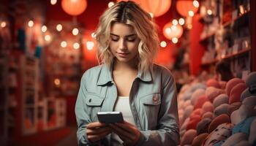
M 22 82 L 22 133 L 34 134 L 37 132 L 37 104 L 39 61 L 34 56 L 20 57 L 20 75 Z

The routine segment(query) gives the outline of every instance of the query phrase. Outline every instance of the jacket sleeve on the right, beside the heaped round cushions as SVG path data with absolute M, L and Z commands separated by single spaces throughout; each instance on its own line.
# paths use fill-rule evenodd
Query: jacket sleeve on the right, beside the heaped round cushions
M 179 143 L 176 85 L 171 75 L 164 82 L 157 130 L 140 131 L 141 137 L 137 145 L 178 145 Z

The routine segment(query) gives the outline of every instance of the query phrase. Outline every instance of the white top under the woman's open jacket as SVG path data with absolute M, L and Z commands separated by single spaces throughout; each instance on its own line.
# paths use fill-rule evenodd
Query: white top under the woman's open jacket
M 132 110 L 129 107 L 129 96 L 118 96 L 116 101 L 116 106 L 114 107 L 114 111 L 122 112 L 124 120 L 135 125 L 135 121 L 132 116 Z M 112 133 L 111 134 L 111 145 L 121 145 L 122 140 L 118 137 L 118 135 Z

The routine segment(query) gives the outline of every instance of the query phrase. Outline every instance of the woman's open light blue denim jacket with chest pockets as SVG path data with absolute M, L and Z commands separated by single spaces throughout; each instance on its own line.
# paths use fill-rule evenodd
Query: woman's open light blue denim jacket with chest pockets
M 75 115 L 78 123 L 78 145 L 110 145 L 110 134 L 91 143 L 86 126 L 98 121 L 97 112 L 113 111 L 117 89 L 112 68 L 105 65 L 87 70 L 81 79 Z M 129 104 L 135 125 L 141 132 L 137 145 L 178 145 L 178 110 L 176 85 L 170 71 L 154 64 L 153 72 L 138 76 L 132 83 Z

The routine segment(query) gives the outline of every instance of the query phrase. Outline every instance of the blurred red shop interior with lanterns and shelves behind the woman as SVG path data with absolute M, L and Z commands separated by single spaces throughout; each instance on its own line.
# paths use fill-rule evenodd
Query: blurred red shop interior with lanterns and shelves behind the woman
M 1 145 L 78 145 L 80 79 L 98 65 L 99 16 L 118 1 L 0 1 Z M 223 123 L 231 132 L 215 144 L 256 145 L 255 1 L 134 1 L 176 80 L 180 145 L 210 145 Z

